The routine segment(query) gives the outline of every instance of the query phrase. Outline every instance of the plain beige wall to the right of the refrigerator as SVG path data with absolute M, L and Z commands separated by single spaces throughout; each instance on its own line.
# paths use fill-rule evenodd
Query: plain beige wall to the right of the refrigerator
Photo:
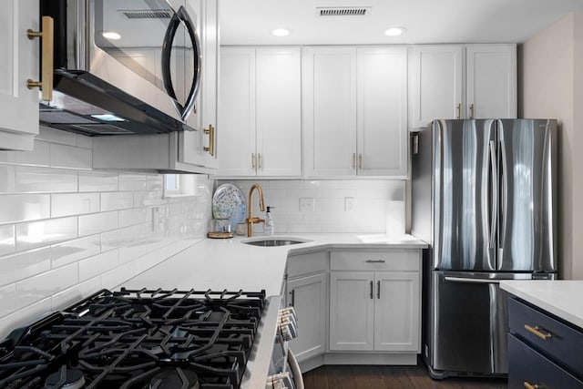
M 557 118 L 558 256 L 562 278 L 583 279 L 583 14 L 570 14 L 519 49 L 519 116 Z

